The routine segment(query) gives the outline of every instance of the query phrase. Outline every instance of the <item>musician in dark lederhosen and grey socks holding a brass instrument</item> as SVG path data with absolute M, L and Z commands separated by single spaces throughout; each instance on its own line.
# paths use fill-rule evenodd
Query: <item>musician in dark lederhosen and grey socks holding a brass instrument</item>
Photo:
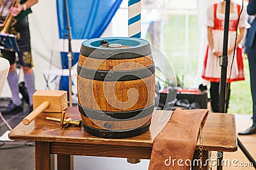
M 16 71 L 17 62 L 19 62 L 23 73 L 26 88 L 29 96 L 29 110 L 33 110 L 33 94 L 35 92 L 35 75 L 33 73 L 33 59 L 31 55 L 30 32 L 28 14 L 32 12 L 31 6 L 38 3 L 38 0 L 21 0 L 17 6 L 12 6 L 13 0 L 6 0 L 1 6 L 0 17 L 5 20 L 9 10 L 14 17 L 10 26 L 10 34 L 16 34 L 19 52 L 17 52 L 19 60 L 16 61 L 16 53 L 9 50 L 1 50 L 1 57 L 8 59 L 10 62 L 10 71 L 8 73 L 8 84 L 12 91 L 12 101 L 8 108 L 1 110 L 3 115 L 15 114 L 23 111 L 22 101 L 19 97 L 19 76 Z

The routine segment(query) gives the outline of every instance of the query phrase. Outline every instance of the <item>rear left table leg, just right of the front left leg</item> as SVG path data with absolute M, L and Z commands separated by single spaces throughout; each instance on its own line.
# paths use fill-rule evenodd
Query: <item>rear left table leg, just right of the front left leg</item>
M 74 156 L 73 155 L 57 155 L 58 169 L 60 170 L 73 170 L 74 169 Z

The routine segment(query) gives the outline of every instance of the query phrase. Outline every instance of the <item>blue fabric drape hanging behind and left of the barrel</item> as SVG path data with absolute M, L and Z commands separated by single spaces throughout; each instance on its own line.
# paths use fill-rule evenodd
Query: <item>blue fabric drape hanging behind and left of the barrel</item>
M 68 0 L 68 14 L 72 39 L 99 38 L 118 10 L 122 0 Z M 67 38 L 67 13 L 65 1 L 56 0 L 60 38 Z M 74 53 L 72 66 L 77 63 L 79 53 Z M 68 68 L 67 52 L 61 52 L 63 69 Z M 68 91 L 68 77 L 62 76 L 60 89 Z

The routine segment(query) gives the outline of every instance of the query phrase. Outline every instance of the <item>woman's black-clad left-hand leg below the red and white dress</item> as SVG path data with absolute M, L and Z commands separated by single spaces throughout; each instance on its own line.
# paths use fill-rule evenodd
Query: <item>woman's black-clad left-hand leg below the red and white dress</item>
M 211 82 L 210 96 L 212 112 L 219 112 L 219 86 L 220 83 Z

